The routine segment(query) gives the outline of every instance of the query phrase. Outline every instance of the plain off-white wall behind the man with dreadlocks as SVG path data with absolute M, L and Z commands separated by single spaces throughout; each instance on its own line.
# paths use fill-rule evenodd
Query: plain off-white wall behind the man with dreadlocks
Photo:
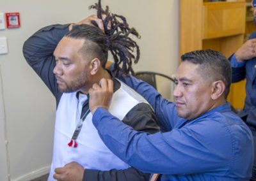
M 21 27 L 0 31 L 0 37 L 8 38 L 9 48 L 8 54 L 0 55 L 0 180 L 6 180 L 7 173 L 10 180 L 29 180 L 46 173 L 51 163 L 55 101 L 24 61 L 24 41 L 45 25 L 78 22 L 95 13 L 88 10 L 95 2 L 1 0 L 0 12 L 19 12 Z M 102 0 L 102 5 L 124 15 L 141 34 L 136 71 L 175 73 L 179 59 L 178 0 Z M 7 148 L 3 148 L 5 140 Z

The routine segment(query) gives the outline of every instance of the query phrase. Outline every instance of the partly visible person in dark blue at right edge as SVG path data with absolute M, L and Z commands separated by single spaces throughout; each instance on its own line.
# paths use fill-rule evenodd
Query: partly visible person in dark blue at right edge
M 256 23 L 256 1 L 252 1 L 253 20 Z M 244 108 L 237 114 L 250 127 L 256 150 L 256 31 L 229 57 L 232 66 L 232 82 L 246 79 Z M 256 180 L 256 157 L 254 157 L 251 180 Z

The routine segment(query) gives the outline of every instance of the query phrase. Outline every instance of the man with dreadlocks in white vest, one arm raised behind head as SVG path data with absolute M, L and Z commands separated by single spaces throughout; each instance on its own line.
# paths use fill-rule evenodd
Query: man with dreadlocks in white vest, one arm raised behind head
M 57 103 L 48 180 L 63 180 L 61 173 L 66 173 L 63 169 L 75 163 L 82 171 L 76 170 L 81 174 L 79 179 L 72 180 L 148 180 L 148 174 L 131 168 L 104 145 L 92 124 L 88 105 L 88 90 L 93 83 L 112 78 L 115 90 L 109 111 L 137 131 L 159 131 L 147 101 L 105 69 L 109 50 L 115 64 L 122 64 L 116 75 L 132 73 L 132 61 L 138 61 L 140 51 L 129 35 L 139 35 L 129 28 L 124 17 L 110 14 L 108 7 L 102 10 L 100 2 L 91 8 L 98 10 L 98 17 L 88 17 L 78 24 L 44 27 L 24 43 L 26 61 L 54 94 Z M 104 27 L 97 23 L 102 14 Z M 91 22 L 93 25 L 88 25 Z M 100 29 L 105 29 L 105 33 Z M 132 54 L 134 48 L 136 56 Z

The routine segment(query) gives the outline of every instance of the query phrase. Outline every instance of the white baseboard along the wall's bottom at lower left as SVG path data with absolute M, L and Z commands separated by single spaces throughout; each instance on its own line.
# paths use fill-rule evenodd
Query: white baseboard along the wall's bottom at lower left
M 27 173 L 26 175 L 22 175 L 19 178 L 11 178 L 11 181 L 28 181 L 28 180 L 32 180 L 38 177 L 41 177 L 43 175 L 46 175 L 47 173 L 49 173 L 51 166 L 45 166 L 43 168 L 40 168 L 38 170 L 35 171 L 31 171 L 30 173 Z

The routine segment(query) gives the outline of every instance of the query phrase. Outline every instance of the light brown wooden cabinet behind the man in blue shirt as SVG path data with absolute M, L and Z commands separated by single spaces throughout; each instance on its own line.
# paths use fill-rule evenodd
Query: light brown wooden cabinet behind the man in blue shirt
M 193 50 L 212 49 L 226 57 L 244 43 L 245 0 L 207 2 L 180 0 L 180 55 Z M 245 81 L 232 83 L 228 101 L 242 109 Z

